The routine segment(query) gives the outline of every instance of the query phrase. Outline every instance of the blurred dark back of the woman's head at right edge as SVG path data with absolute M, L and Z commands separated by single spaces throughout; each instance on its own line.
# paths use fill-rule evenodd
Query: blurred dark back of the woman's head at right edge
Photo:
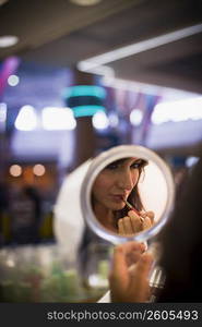
M 180 189 L 169 225 L 159 234 L 166 283 L 161 302 L 202 302 L 202 152 Z

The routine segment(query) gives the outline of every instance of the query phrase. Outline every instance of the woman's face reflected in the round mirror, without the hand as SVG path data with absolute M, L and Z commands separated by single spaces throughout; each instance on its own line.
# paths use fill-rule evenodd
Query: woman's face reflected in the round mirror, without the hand
M 110 210 L 120 210 L 136 185 L 142 159 L 126 158 L 108 165 L 93 185 L 93 201 Z

